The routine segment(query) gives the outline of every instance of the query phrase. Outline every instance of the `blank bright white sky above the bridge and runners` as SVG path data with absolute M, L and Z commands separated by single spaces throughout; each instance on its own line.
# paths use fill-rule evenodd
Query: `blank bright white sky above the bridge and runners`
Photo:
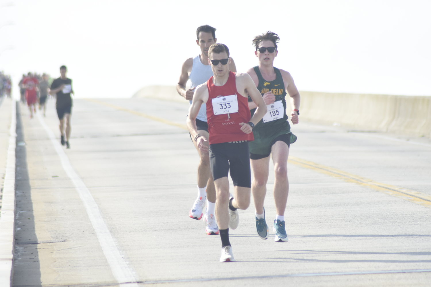
M 431 96 L 430 15 L 428 0 L 0 0 L 0 70 L 15 92 L 23 73 L 58 77 L 66 65 L 76 97 L 130 97 L 175 85 L 208 24 L 239 72 L 257 65 L 251 41 L 271 30 L 275 66 L 300 90 Z

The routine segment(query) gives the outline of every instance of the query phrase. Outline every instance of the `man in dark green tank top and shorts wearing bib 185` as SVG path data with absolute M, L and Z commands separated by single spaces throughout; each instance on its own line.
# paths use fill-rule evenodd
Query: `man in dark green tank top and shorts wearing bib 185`
M 269 174 L 269 156 L 272 155 L 275 171 L 274 200 L 277 212 L 273 231 L 275 241 L 287 242 L 284 221 L 287 194 L 289 193 L 287 158 L 290 144 L 294 143 L 297 137 L 290 132 L 285 96 L 289 94 L 290 104 L 293 107 L 290 120 L 293 124 L 296 124 L 299 121 L 300 94 L 289 72 L 274 67 L 279 40 L 278 35 L 271 31 L 253 39 L 253 45 L 256 47 L 255 55 L 259 59 L 259 65 L 250 68 L 247 74 L 250 74 L 257 89 L 262 94 L 268 111 L 265 117 L 253 128 L 254 141 L 249 143 L 249 149 L 254 177 L 251 190 L 256 207 L 257 234 L 262 239 L 269 237 L 263 203 Z M 253 115 L 256 108 L 253 102 L 249 102 L 249 108 Z

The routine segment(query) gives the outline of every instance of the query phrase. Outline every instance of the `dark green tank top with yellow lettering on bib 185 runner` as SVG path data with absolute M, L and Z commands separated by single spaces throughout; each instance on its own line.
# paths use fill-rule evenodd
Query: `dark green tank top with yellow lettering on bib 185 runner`
M 256 72 L 256 75 L 259 79 L 259 84 L 257 86 L 257 89 L 259 90 L 260 94 L 263 96 L 265 93 L 271 91 L 275 96 L 275 102 L 281 101 L 283 103 L 283 117 L 279 118 L 277 120 L 272 120 L 269 122 L 264 123 L 263 120 L 260 120 L 259 123 L 255 125 L 253 130 L 261 130 L 261 129 L 268 129 L 271 127 L 280 127 L 280 125 L 289 125 L 289 122 L 287 121 L 287 114 L 286 114 L 286 89 L 284 89 L 284 82 L 283 77 L 281 77 L 280 70 L 278 68 L 274 67 L 274 71 L 276 74 L 275 80 L 273 81 L 266 81 L 263 79 L 262 74 L 260 74 L 259 67 L 253 67 L 254 71 Z M 252 102 L 253 100 L 248 97 L 248 101 Z M 250 110 L 251 116 L 253 117 L 254 112 L 256 111 L 256 108 L 253 108 Z M 290 125 L 289 125 L 290 130 Z

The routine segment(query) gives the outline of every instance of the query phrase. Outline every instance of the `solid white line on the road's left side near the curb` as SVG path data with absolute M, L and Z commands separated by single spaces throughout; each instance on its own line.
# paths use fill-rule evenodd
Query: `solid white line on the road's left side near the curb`
M 120 286 L 128 286 L 128 287 L 138 287 L 136 282 L 136 278 L 134 276 L 133 270 L 128 266 L 127 262 L 125 262 L 123 256 L 121 255 L 118 247 L 112 238 L 111 233 L 109 232 L 108 227 L 103 219 L 102 213 L 100 212 L 99 207 L 97 206 L 96 201 L 88 190 L 87 186 L 85 186 L 81 177 L 70 164 L 69 158 L 66 153 L 63 151 L 62 146 L 59 144 L 58 140 L 54 136 L 54 133 L 47 126 L 45 121 L 42 119 L 40 113 L 36 113 L 37 118 L 39 119 L 42 127 L 47 131 L 48 136 L 51 142 L 54 145 L 57 154 L 60 157 L 61 164 L 66 171 L 66 174 L 72 180 L 73 185 L 75 185 L 76 191 L 78 191 L 79 197 L 84 203 L 84 207 L 87 210 L 88 217 L 90 218 L 91 224 L 93 225 L 94 231 L 96 231 L 97 239 L 99 240 L 100 246 L 102 247 L 103 253 L 105 254 L 106 260 L 111 267 L 112 275 L 119 282 Z

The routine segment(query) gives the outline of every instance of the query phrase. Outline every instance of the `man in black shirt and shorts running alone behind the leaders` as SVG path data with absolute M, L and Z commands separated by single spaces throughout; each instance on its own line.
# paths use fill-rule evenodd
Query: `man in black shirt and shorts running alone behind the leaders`
M 72 117 L 72 97 L 70 94 L 73 93 L 72 80 L 66 77 L 67 68 L 66 66 L 60 67 L 61 76 L 53 81 L 51 84 L 50 95 L 57 95 L 56 109 L 57 115 L 60 120 L 60 133 L 61 133 L 61 144 L 65 145 L 66 148 L 70 148 L 69 136 L 71 131 L 70 118 Z M 66 118 L 66 135 L 65 135 L 65 121 Z M 65 140 L 66 136 L 66 140 Z

